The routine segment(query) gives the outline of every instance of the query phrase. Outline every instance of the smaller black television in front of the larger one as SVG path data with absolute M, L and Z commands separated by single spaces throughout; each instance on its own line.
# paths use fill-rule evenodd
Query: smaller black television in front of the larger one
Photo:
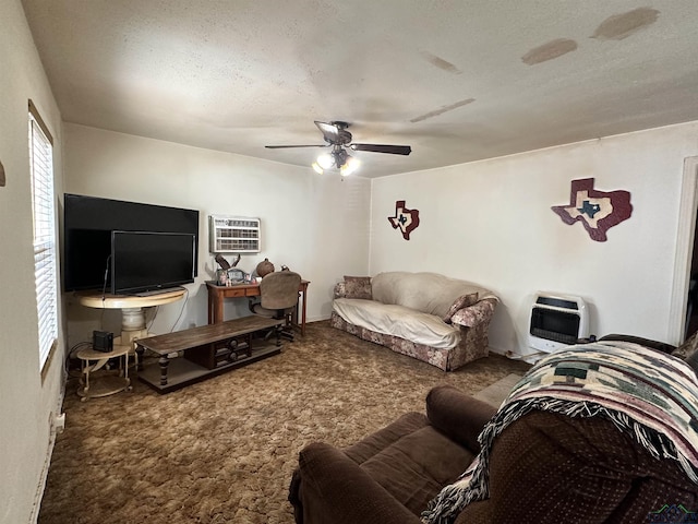
M 134 295 L 194 282 L 196 238 L 184 233 L 112 231 L 111 293 Z

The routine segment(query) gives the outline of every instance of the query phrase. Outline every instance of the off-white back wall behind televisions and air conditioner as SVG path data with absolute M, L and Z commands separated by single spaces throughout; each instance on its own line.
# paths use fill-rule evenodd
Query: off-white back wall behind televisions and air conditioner
M 268 258 L 311 281 L 309 320 L 329 317 L 332 290 L 345 273 L 368 271 L 370 181 L 318 176 L 299 168 L 95 128 L 64 124 L 65 192 L 188 207 L 200 211 L 198 277 L 186 303 L 163 306 L 153 333 L 206 323 L 206 288 L 216 267 L 208 254 L 210 214 L 262 219 L 263 251 L 243 254 L 239 267 L 252 272 Z M 119 330 L 118 312 L 85 310 L 72 294 L 70 345 L 94 329 Z M 183 310 L 182 310 L 183 308 Z M 182 311 L 180 317 L 180 311 Z M 149 312 L 148 321 L 154 311 Z M 246 300 L 226 302 L 226 318 L 250 314 Z M 179 321 L 178 321 L 179 318 Z M 148 324 L 151 325 L 151 324 Z

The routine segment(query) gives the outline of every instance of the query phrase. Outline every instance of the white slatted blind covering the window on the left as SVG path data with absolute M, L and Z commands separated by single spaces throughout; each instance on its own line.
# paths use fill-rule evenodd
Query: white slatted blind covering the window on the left
M 39 369 L 44 370 L 58 338 L 58 278 L 53 146 L 29 102 L 29 168 L 34 215 L 34 279 L 39 333 Z

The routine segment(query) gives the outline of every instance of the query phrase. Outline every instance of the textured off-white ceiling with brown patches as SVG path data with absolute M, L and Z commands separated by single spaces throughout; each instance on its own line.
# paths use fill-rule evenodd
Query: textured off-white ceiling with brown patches
M 696 0 L 23 0 L 67 122 L 381 177 L 698 120 Z M 310 169 L 310 167 L 309 167 Z

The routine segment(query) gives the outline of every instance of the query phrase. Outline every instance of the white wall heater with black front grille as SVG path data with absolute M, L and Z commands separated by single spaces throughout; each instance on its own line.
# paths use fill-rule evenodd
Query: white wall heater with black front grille
M 589 314 L 581 297 L 538 291 L 533 296 L 529 346 L 552 353 L 589 337 Z

